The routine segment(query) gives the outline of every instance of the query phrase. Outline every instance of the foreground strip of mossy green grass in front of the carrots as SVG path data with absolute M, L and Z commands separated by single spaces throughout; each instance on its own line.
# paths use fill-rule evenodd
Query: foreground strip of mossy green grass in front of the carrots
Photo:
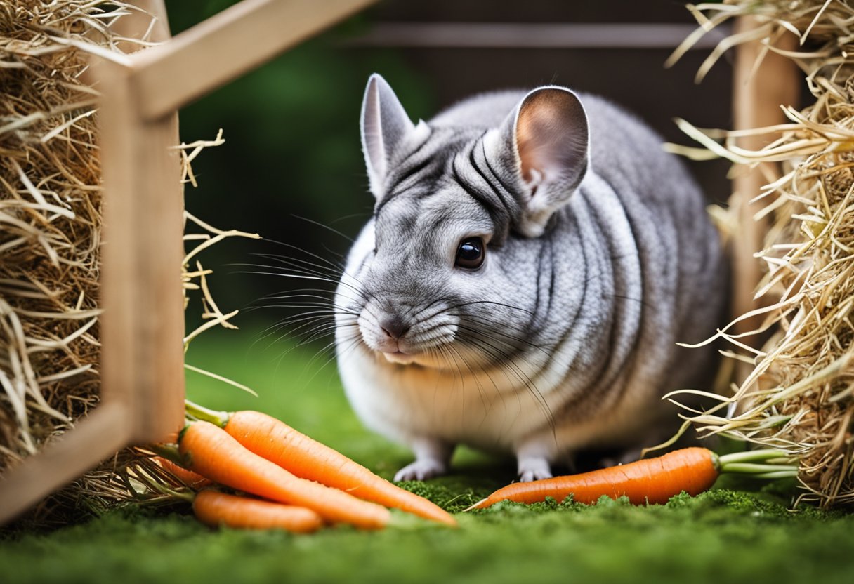
M 646 508 L 611 499 L 500 504 L 460 517 L 456 530 L 414 522 L 299 536 L 117 511 L 7 541 L 0 569 L 9 583 L 850 581 L 851 516 L 765 514 L 725 502 L 733 497 L 742 495 L 713 491 Z

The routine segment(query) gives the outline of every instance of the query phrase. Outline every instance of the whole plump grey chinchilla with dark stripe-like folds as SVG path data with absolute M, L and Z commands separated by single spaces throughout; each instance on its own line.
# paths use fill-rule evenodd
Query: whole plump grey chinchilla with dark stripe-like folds
M 584 448 L 649 446 L 661 396 L 709 388 L 728 286 L 697 186 L 639 120 L 562 87 L 472 97 L 413 124 L 368 82 L 376 206 L 336 291 L 348 399 L 412 448 L 514 453 L 523 480 Z

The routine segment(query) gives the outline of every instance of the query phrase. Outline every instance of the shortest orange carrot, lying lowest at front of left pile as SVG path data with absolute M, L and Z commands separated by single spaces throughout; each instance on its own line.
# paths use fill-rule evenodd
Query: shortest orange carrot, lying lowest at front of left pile
M 282 505 L 262 499 L 238 497 L 206 489 L 193 499 L 193 512 L 211 527 L 226 525 L 242 529 L 287 529 L 309 533 L 323 526 L 323 519 L 311 509 Z

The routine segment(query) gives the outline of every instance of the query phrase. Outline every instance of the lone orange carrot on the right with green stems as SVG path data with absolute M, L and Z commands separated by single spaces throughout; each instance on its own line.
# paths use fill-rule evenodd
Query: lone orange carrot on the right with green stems
M 635 505 L 664 504 L 682 491 L 692 496 L 702 493 L 711 488 L 722 472 L 745 473 L 761 478 L 796 476 L 798 469 L 794 466 L 752 464 L 752 461 L 782 457 L 785 454 L 778 450 L 755 450 L 719 457 L 706 448 L 682 448 L 658 458 L 646 458 L 580 475 L 514 482 L 471 505 L 469 509 L 483 509 L 505 499 L 518 503 L 536 503 L 552 497 L 562 501 L 570 494 L 574 501 L 588 505 L 602 495 L 611 499 L 624 495 Z

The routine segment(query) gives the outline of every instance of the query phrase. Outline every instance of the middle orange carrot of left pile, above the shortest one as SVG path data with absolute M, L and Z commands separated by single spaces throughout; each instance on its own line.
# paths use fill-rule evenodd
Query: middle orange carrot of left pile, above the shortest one
M 187 425 L 178 441 L 184 465 L 227 487 L 265 499 L 317 511 L 331 523 L 379 529 L 389 523 L 389 510 L 353 495 L 292 475 L 278 464 L 249 452 L 224 429 L 208 422 Z

